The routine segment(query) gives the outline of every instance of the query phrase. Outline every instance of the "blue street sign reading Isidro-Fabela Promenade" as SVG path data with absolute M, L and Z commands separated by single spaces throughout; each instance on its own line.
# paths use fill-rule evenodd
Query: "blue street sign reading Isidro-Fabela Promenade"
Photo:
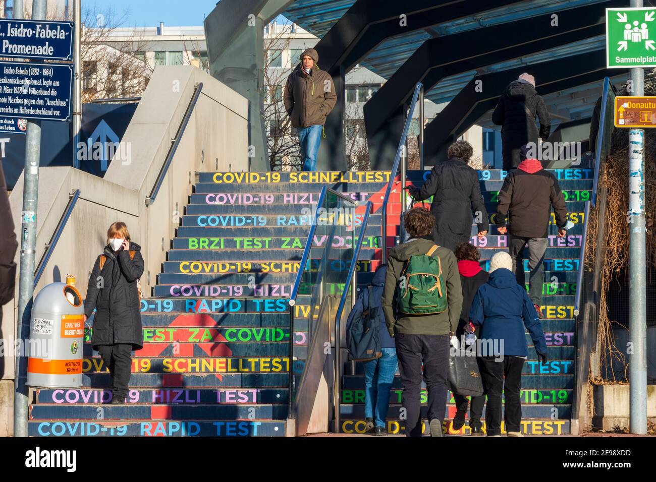
M 0 19 L 0 57 L 73 60 L 73 22 Z

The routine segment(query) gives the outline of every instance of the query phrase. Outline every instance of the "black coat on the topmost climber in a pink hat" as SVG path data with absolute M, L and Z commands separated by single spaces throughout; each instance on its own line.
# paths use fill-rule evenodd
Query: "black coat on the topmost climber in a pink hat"
M 540 131 L 535 125 L 535 117 L 540 119 Z M 535 87 L 526 81 L 513 81 L 501 97 L 492 114 L 492 122 L 501 125 L 501 144 L 503 169 L 506 171 L 520 164 L 520 148 L 540 137 L 549 137 L 551 120 L 544 100 Z

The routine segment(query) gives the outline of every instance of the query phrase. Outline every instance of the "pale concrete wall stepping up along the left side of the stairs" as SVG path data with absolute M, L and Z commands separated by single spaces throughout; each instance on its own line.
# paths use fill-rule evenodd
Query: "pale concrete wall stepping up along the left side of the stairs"
M 203 83 L 194 113 L 155 203 L 146 206 L 146 197 L 165 161 L 171 139 L 178 127 L 197 83 Z M 81 194 L 66 229 L 52 253 L 35 294 L 45 285 L 75 275 L 83 296 L 89 273 L 106 243 L 112 222 L 124 221 L 134 242 L 142 247 L 146 262 L 141 287 L 151 294 L 161 264 L 165 261 L 175 229 L 179 226 L 195 172 L 246 171 L 248 102 L 245 98 L 191 66 L 158 67 L 142 96 L 133 119 L 123 136 L 123 152 L 130 155 L 113 159 L 104 178 L 71 167 L 47 167 L 39 172 L 36 260 L 54 231 L 73 190 Z M 41 146 L 47 149 L 47 146 Z M 119 150 L 120 151 L 120 150 Z M 23 177 L 18 179 L 9 201 L 16 232 L 20 231 Z M 20 250 L 19 250 L 20 251 Z M 16 252 L 20 265 L 20 252 Z M 18 292 L 18 277 L 16 278 Z M 0 338 L 5 352 L 16 336 L 18 300 L 3 306 Z M 5 353 L 7 354 L 7 353 Z M 11 433 L 14 357 L 0 357 L 0 436 Z M 6 416 L 3 416 L 6 415 Z

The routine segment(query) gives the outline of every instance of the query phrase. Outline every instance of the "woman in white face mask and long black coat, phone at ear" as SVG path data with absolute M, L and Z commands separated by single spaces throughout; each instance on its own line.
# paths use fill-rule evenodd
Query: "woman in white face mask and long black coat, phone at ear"
M 91 344 L 112 374 L 112 404 L 125 402 L 132 369 L 132 350 L 144 346 L 138 281 L 144 272 L 141 247 L 130 241 L 123 222 L 107 231 L 107 245 L 89 277 L 85 321 L 93 319 Z

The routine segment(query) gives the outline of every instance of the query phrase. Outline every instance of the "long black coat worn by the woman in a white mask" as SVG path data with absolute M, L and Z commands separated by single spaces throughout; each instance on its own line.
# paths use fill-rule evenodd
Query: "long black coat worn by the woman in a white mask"
M 84 302 L 87 317 L 91 317 L 96 308 L 91 334 L 94 350 L 97 350 L 98 345 L 117 343 L 132 344 L 134 350 L 144 346 L 140 300 L 136 287 L 136 282 L 144 272 L 144 258 L 140 250 L 138 244 L 130 241 L 129 251 L 136 251 L 134 259 L 131 260 L 128 251 L 121 249 L 114 252 L 111 247 L 106 246 L 102 254 L 107 259 L 102 271 L 100 256 L 96 258 Z M 102 277 L 102 280 L 98 280 L 98 277 Z

